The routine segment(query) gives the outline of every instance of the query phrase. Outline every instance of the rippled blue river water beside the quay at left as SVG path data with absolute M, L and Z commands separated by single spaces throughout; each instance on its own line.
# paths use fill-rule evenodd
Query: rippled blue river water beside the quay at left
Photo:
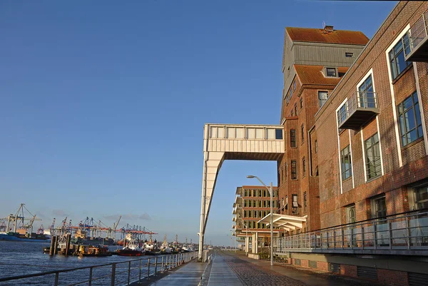
M 139 257 L 124 257 L 112 255 L 107 257 L 78 257 L 78 256 L 50 256 L 43 252 L 43 248 L 49 246 L 45 242 L 9 242 L 0 241 L 0 277 L 9 277 L 17 275 L 33 274 L 38 272 L 63 270 L 76 267 L 85 267 L 92 265 L 103 265 L 111 262 L 123 262 L 129 260 L 137 260 Z M 116 250 L 120 246 L 110 246 L 110 250 Z M 147 263 L 149 256 L 144 257 L 143 265 Z M 153 260 L 154 257 L 150 256 Z M 153 263 L 153 260 L 151 260 Z M 158 256 L 161 260 L 161 255 Z M 132 262 L 131 267 L 138 267 L 139 261 Z M 119 264 L 116 272 L 123 272 L 121 275 L 116 275 L 116 280 L 126 280 L 128 272 L 128 263 Z M 59 285 L 69 285 L 71 282 L 83 281 L 88 279 L 89 270 L 80 270 L 74 272 L 66 272 L 60 274 Z M 133 280 L 138 278 L 138 269 L 131 273 Z M 151 271 L 152 272 L 152 271 Z M 111 273 L 111 266 L 96 268 L 93 277 L 101 277 Z M 143 277 L 147 275 L 147 270 L 143 271 Z M 110 285 L 108 279 L 98 280 L 92 285 Z M 131 279 L 132 280 L 132 279 Z M 34 277 L 16 282 L 0 282 L 1 286 L 5 285 L 54 285 L 54 275 L 46 277 Z M 107 284 L 108 283 L 108 284 Z M 87 285 L 87 284 L 82 284 Z

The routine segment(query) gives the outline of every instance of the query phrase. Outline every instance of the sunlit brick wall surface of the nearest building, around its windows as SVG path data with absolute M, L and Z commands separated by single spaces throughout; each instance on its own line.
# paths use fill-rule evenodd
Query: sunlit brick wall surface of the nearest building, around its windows
M 351 203 L 355 203 L 357 220 L 370 218 L 370 198 L 381 193 L 386 194 L 388 215 L 409 210 L 408 189 L 404 186 L 428 178 L 427 165 L 423 165 L 428 163 L 423 138 L 402 148 L 400 144 L 397 145 L 397 128 L 394 123 L 395 108 L 416 90 L 416 82 L 419 79 L 422 111 L 427 124 L 428 64 L 417 63 L 418 76 L 415 68 L 409 66 L 407 71 L 391 82 L 386 53 L 406 26 L 416 21 L 422 11 L 427 9 L 427 2 L 399 2 L 372 41 L 367 44 L 362 56 L 315 116 L 322 228 L 343 223 L 344 215 L 340 208 Z M 345 98 L 349 98 L 357 90 L 357 84 L 370 72 L 379 100 L 379 116 L 358 131 L 344 131 L 338 136 L 335 128 L 336 110 Z M 378 133 L 381 144 L 383 175 L 366 181 L 364 141 L 374 133 Z M 340 180 L 339 153 L 349 143 L 352 145 L 352 180 L 355 188 L 352 188 L 352 180 Z M 399 155 L 402 156 L 402 167 L 399 165 Z

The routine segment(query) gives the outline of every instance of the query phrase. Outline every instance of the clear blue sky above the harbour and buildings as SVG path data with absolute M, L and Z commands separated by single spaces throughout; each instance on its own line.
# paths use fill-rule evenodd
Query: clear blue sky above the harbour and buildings
M 198 240 L 204 123 L 280 121 L 285 26 L 363 31 L 395 1 L 0 1 L 0 218 L 87 216 Z M 227 161 L 206 241 L 230 244 Z

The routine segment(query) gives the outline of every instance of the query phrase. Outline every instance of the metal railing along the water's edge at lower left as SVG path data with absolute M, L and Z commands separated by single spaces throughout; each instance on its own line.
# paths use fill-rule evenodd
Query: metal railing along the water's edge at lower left
M 130 285 L 133 282 L 141 283 L 151 276 L 173 269 L 197 256 L 197 252 L 183 252 L 103 265 L 0 277 L 0 285 Z

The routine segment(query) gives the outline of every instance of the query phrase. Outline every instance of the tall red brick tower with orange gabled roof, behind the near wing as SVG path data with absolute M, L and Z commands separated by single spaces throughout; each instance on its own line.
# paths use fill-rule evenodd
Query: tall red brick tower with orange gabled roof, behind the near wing
M 320 228 L 315 113 L 368 41 L 359 31 L 332 26 L 285 29 L 281 112 L 285 154 L 278 162 L 278 206 L 280 214 L 307 216 L 304 230 Z

